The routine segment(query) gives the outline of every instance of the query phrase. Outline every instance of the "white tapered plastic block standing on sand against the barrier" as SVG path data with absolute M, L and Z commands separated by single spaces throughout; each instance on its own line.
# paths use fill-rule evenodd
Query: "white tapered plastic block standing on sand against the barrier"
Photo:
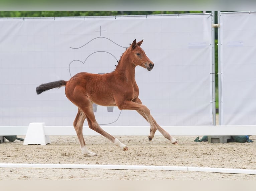
M 50 143 L 49 136 L 44 133 L 45 123 L 29 123 L 23 145 Z

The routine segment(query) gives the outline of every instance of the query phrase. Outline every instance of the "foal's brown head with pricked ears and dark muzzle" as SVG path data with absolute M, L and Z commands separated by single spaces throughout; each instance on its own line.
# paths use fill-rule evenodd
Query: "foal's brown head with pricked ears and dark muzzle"
M 141 66 L 143 68 L 146 68 L 148 71 L 152 70 L 154 67 L 154 63 L 149 60 L 149 58 L 146 56 L 145 52 L 140 48 L 140 45 L 142 44 L 143 40 L 136 43 L 136 39 L 132 42 L 130 50 L 133 63 L 135 66 Z

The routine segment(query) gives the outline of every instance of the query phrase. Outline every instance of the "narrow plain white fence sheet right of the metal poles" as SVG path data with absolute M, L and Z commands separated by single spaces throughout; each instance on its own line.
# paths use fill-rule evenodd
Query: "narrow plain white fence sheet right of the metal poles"
M 221 124 L 256 124 L 256 13 L 220 16 Z

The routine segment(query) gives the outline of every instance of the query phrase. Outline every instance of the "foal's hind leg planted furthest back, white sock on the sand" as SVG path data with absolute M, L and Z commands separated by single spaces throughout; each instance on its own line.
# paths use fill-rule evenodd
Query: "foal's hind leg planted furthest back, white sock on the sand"
M 86 119 L 85 113 L 80 108 L 78 108 L 78 113 L 74 120 L 73 125 L 77 132 L 77 137 L 78 137 L 78 140 L 80 143 L 80 148 L 81 148 L 82 153 L 85 156 L 95 156 L 96 154 L 94 152 L 90 152 L 85 145 L 85 140 L 84 140 L 84 136 L 83 136 L 83 125 L 84 125 L 85 119 Z

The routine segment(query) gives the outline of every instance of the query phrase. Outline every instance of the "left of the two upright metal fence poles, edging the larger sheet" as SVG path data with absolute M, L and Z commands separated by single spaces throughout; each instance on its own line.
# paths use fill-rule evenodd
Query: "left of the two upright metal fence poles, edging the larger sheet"
M 215 24 L 215 11 L 212 11 L 212 26 Z M 215 28 L 212 27 L 212 104 L 213 104 L 213 125 L 216 125 L 216 100 L 215 100 Z

